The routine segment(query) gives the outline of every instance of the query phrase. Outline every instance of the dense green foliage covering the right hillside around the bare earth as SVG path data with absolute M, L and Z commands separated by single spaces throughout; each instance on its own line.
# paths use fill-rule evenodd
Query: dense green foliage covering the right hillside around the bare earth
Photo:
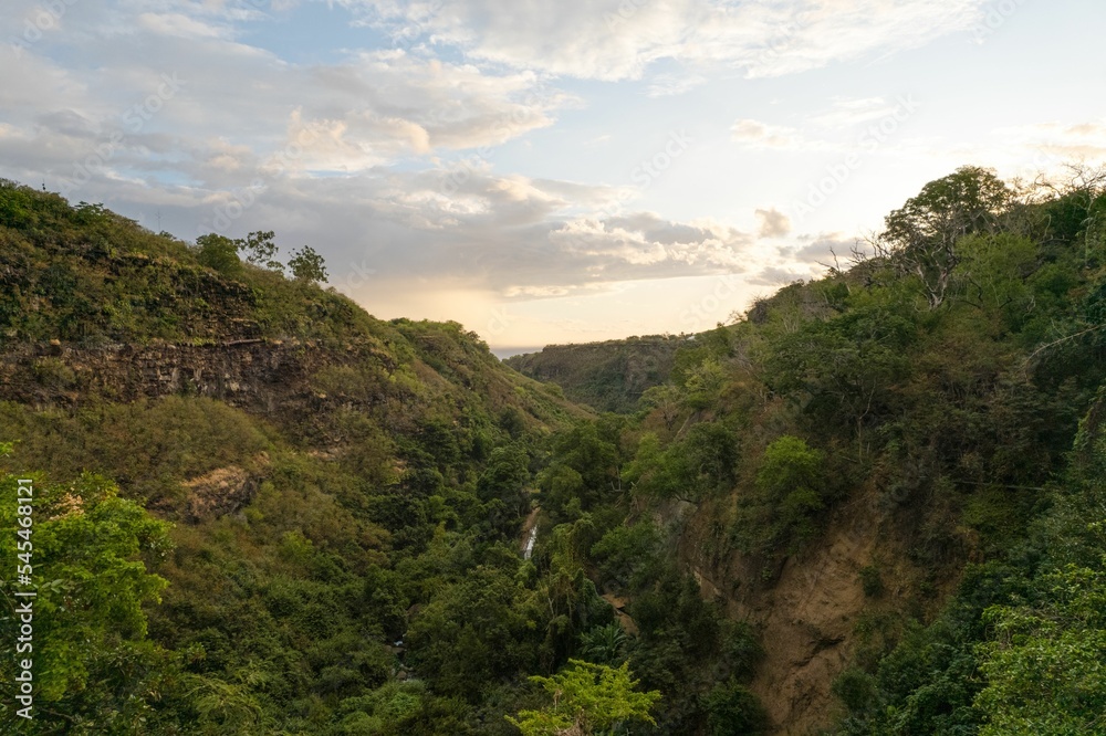
M 877 538 L 843 733 L 1106 729 L 1106 177 L 1071 172 L 930 182 L 848 269 L 681 346 L 612 440 L 622 487 L 685 504 L 678 534 L 734 600 L 833 519 Z M 581 483 L 599 465 L 559 471 L 549 500 L 615 487 Z

